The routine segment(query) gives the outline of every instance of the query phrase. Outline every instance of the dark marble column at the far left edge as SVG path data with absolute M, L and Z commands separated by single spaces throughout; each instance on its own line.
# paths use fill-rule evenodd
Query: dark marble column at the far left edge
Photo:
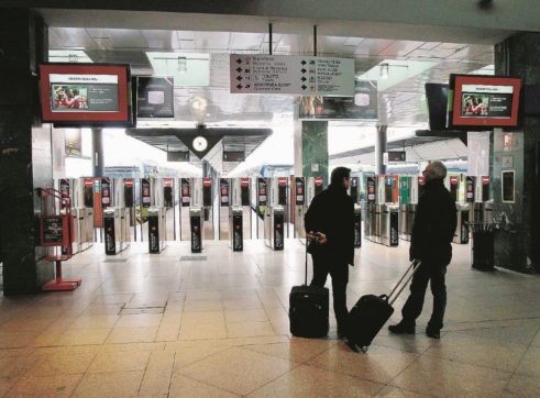
M 38 64 L 47 54 L 41 18 L 27 9 L 0 14 L 0 251 L 5 296 L 31 294 L 52 278 L 40 263 L 37 187 L 53 184 L 51 125 L 42 124 Z

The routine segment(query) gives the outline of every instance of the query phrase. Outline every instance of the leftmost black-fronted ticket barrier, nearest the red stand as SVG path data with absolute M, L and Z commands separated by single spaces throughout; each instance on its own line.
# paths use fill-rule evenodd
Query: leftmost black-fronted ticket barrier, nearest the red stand
M 130 245 L 130 223 L 125 208 L 103 210 L 104 253 L 114 255 Z

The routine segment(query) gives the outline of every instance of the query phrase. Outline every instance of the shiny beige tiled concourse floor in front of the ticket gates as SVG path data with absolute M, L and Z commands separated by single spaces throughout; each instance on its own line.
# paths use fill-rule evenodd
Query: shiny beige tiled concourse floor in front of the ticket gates
M 73 292 L 0 297 L 0 396 L 74 397 L 539 397 L 540 277 L 470 267 L 454 245 L 440 341 L 388 335 L 366 354 L 337 339 L 291 338 L 288 294 L 304 280 L 304 246 L 188 242 L 158 255 L 145 243 L 106 256 L 96 244 L 64 266 Z M 408 265 L 408 243 L 363 241 L 349 307 L 387 292 Z M 327 286 L 330 286 L 328 281 Z M 398 321 L 406 295 L 396 302 Z

